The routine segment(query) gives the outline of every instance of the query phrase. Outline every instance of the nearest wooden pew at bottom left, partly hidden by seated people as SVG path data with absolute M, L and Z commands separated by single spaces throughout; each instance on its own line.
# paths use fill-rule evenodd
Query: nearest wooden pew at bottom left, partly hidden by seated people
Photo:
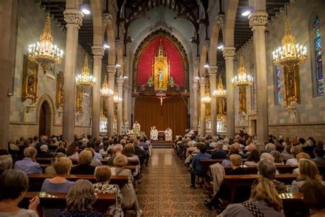
M 46 192 L 26 192 L 23 201 L 19 207 L 28 209 L 29 200 L 38 196 L 40 204 L 38 205 L 38 214 L 43 216 L 43 209 L 65 209 L 67 207 L 66 193 L 46 193 Z M 115 204 L 115 194 L 97 194 L 97 201 L 93 205 L 96 211 L 105 214 L 108 206 Z

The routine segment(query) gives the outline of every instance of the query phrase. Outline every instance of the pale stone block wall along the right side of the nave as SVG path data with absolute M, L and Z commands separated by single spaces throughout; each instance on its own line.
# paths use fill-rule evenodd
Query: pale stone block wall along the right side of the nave
M 297 114 L 289 112 L 286 109 L 285 102 L 283 100 L 285 96 L 284 89 L 284 76 L 283 71 L 280 75 L 280 92 L 282 101 L 280 104 L 276 104 L 275 89 L 276 84 L 274 82 L 274 65 L 272 64 L 272 52 L 281 45 L 282 36 L 285 28 L 285 12 L 282 10 L 278 16 L 274 17 L 272 21 L 269 21 L 267 25 L 266 34 L 266 51 L 267 51 L 267 88 L 268 90 L 268 104 L 269 104 L 269 133 L 273 135 L 297 135 L 301 137 L 313 136 L 316 139 L 324 138 L 324 125 L 325 125 L 325 96 L 314 97 L 313 95 L 313 61 L 311 58 L 312 44 L 311 35 L 309 29 L 311 25 L 311 17 L 313 13 L 320 15 L 321 20 L 321 33 L 322 33 L 322 55 L 323 55 L 323 73 L 325 68 L 325 2 L 324 1 L 308 1 L 308 0 L 296 0 L 291 3 L 288 8 L 289 20 L 291 22 L 291 32 L 296 36 L 296 43 L 306 45 L 308 60 L 304 64 L 300 65 L 300 92 L 301 92 L 301 104 L 293 103 L 293 106 L 297 109 Z M 253 43 L 250 40 L 241 50 L 239 54 L 243 54 L 245 60 L 245 67 L 250 73 L 254 69 L 250 69 L 252 65 L 252 57 L 254 55 Z M 237 56 L 238 58 L 238 56 Z M 235 107 L 238 109 L 238 92 L 236 93 Z M 247 92 L 248 103 L 248 119 L 252 109 L 250 108 L 250 91 Z M 238 110 L 237 110 L 238 111 Z M 248 122 L 243 122 L 240 117 L 236 116 L 237 129 L 242 126 L 249 126 Z

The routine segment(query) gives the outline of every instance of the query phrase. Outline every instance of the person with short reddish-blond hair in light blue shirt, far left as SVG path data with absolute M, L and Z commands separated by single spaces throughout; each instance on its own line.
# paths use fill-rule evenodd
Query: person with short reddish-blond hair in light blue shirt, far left
M 24 150 L 25 158 L 21 161 L 16 161 L 14 164 L 15 170 L 21 170 L 25 174 L 41 174 L 43 173 L 42 168 L 40 168 L 40 165 L 36 163 L 35 157 L 37 155 L 37 151 L 33 147 L 27 147 Z

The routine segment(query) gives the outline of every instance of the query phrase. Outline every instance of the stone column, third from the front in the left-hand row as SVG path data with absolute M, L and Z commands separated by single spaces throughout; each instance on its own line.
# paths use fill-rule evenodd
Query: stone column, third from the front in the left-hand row
M 115 73 L 117 72 L 117 67 L 115 65 L 108 65 L 106 67 L 107 76 L 108 76 L 108 88 L 114 91 L 115 87 Z M 114 100 L 113 97 L 110 97 L 106 100 L 106 108 L 108 108 L 108 117 L 107 117 L 107 135 L 108 137 L 113 135 L 113 124 L 114 124 Z

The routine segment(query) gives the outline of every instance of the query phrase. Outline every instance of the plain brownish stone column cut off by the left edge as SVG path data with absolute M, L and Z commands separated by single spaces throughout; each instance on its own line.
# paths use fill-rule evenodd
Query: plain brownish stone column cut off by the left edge
M 8 149 L 10 96 L 16 53 L 17 0 L 0 1 L 0 148 Z M 20 93 L 19 93 L 20 94 Z

